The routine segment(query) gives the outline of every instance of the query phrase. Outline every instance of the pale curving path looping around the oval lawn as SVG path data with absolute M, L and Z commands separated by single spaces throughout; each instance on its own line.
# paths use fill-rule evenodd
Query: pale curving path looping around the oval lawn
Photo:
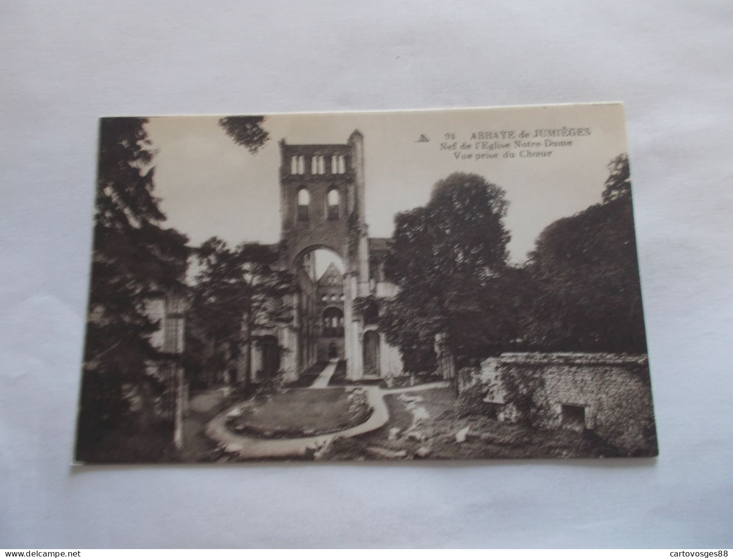
M 339 432 L 309 436 L 307 438 L 263 439 L 235 434 L 229 428 L 226 428 L 226 417 L 232 411 L 238 411 L 249 404 L 248 401 L 242 401 L 214 417 L 206 426 L 206 434 L 221 444 L 227 453 L 233 453 L 243 459 L 297 457 L 299 455 L 305 455 L 308 449 L 322 447 L 337 436 L 350 438 L 381 428 L 389 420 L 389 411 L 384 402 L 385 395 L 431 390 L 436 387 L 448 386 L 448 382 L 434 382 L 432 384 L 422 384 L 413 387 L 398 387 L 391 390 L 382 390 L 377 386 L 360 386 L 367 394 L 367 403 L 374 409 L 371 416 L 364 423 Z M 323 389 L 330 390 L 334 388 L 325 387 Z

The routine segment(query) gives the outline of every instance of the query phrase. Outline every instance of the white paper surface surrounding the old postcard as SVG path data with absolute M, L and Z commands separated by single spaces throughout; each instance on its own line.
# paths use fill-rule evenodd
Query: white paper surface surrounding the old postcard
M 0 7 L 0 546 L 732 546 L 733 4 Z M 100 115 L 626 103 L 661 455 L 71 469 Z

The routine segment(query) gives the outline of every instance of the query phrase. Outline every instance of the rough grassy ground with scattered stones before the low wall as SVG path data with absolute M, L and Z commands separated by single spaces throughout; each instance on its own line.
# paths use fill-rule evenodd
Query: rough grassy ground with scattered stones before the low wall
M 460 417 L 455 408 L 456 396 L 450 388 L 416 392 L 430 415 L 414 429 L 419 436 L 405 436 L 413 423 L 413 412 L 399 395 L 387 395 L 385 401 L 390 419 L 376 431 L 352 439 L 337 439 L 323 454 L 325 459 L 379 459 L 394 454 L 395 458 L 422 456 L 435 459 L 487 458 L 556 458 L 611 457 L 614 447 L 605 444 L 592 432 L 538 430 L 523 425 L 501 423 L 485 416 Z M 468 426 L 464 442 L 456 434 Z M 396 439 L 389 431 L 399 428 Z M 419 438 L 419 439 L 418 439 Z

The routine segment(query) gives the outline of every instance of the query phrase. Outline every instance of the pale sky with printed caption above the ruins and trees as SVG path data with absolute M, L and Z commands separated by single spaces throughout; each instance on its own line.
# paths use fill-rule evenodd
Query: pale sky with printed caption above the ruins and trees
M 168 225 L 191 245 L 215 235 L 232 244 L 276 242 L 278 141 L 345 144 L 358 129 L 370 237 L 390 237 L 394 215 L 424 205 L 439 179 L 471 172 L 506 190 L 510 258 L 518 263 L 543 228 L 600 201 L 608 163 L 626 152 L 620 105 L 276 114 L 265 119 L 270 140 L 256 155 L 235 145 L 218 118 L 161 116 L 147 124 L 156 195 Z

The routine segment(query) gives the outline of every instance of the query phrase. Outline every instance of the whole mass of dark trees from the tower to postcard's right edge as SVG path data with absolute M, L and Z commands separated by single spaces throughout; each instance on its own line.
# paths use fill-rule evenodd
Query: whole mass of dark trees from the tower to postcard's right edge
M 507 264 L 504 191 L 475 174 L 438 182 L 395 218 L 388 341 L 404 356 L 442 334 L 459 361 L 520 347 L 645 352 L 627 156 L 608 169 L 603 203 L 551 223 L 521 267 Z

